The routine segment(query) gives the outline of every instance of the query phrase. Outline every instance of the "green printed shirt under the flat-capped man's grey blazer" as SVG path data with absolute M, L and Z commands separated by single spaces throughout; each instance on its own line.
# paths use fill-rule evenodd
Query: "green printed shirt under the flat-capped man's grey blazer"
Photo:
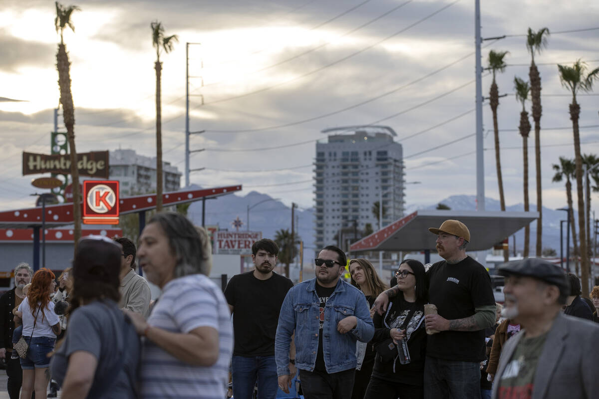
M 530 399 L 533 397 L 534 374 L 543 351 L 547 333 L 533 338 L 522 337 L 512 355 L 497 390 L 498 399 Z

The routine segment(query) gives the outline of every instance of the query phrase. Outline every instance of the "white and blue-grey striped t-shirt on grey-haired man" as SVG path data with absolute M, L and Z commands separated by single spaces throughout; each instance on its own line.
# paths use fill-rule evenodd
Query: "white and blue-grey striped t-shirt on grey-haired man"
M 216 284 L 199 274 L 168 282 L 148 323 L 171 333 L 189 333 L 198 327 L 212 327 L 219 333 L 219 358 L 210 367 L 192 366 L 145 339 L 141 361 L 141 397 L 225 397 L 233 349 L 233 325 L 225 296 Z

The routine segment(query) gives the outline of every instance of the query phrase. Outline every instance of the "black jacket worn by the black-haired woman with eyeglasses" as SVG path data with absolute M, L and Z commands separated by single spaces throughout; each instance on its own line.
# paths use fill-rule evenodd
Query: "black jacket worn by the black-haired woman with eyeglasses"
M 401 295 L 401 293 L 400 293 Z M 391 306 L 385 313 L 384 321 L 389 324 L 392 320 L 391 315 L 397 314 L 398 311 L 404 310 L 403 295 L 396 296 L 391 299 Z M 417 303 L 418 310 L 424 311 L 424 303 Z M 406 383 L 409 385 L 423 385 L 424 377 L 424 359 L 426 357 L 426 330 L 424 326 L 424 316 L 419 327 L 413 331 L 408 340 L 408 349 L 410 350 L 411 361 L 409 364 L 401 364 L 399 360 L 384 362 L 379 354 L 374 360 L 373 376 L 391 382 Z M 375 312 L 373 317 L 374 337 L 372 343 L 374 346 L 390 337 L 390 329 L 385 326 L 383 316 Z M 395 371 L 394 371 L 395 366 Z

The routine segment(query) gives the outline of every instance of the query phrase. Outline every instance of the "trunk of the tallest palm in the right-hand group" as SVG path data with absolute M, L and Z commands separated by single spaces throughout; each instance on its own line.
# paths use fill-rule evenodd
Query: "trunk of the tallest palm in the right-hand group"
M 543 196 L 541 191 L 541 114 L 543 108 L 541 107 L 541 76 L 534 59 L 530 65 L 528 77 L 530 78 L 530 94 L 533 102 L 534 156 L 537 166 L 537 212 L 539 212 L 539 219 L 537 219 L 536 255 L 540 257 L 543 247 Z

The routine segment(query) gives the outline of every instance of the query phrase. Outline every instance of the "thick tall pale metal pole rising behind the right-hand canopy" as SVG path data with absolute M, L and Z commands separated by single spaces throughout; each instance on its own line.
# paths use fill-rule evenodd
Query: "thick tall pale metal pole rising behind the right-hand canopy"
M 483 91 L 480 65 L 480 0 L 474 1 L 474 42 L 476 44 L 476 202 L 477 211 L 485 210 L 485 157 L 483 154 Z

